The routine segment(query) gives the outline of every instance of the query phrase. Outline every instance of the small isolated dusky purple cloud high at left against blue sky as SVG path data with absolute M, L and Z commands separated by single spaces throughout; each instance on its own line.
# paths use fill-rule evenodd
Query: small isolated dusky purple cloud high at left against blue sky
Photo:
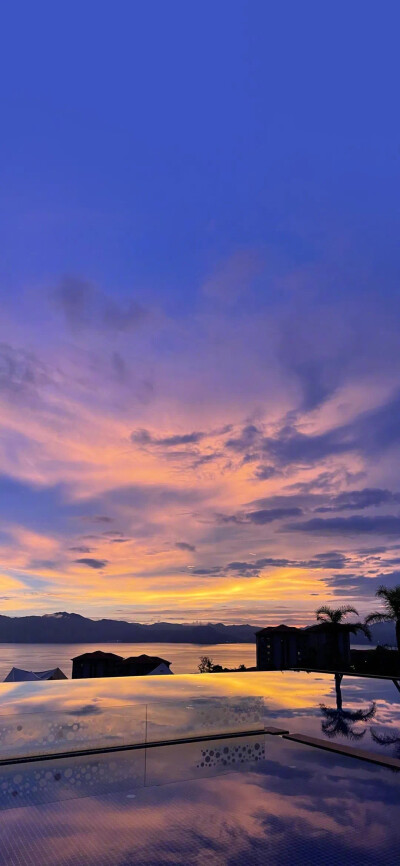
M 127 304 L 119 305 L 88 281 L 74 276 L 64 277 L 54 292 L 54 300 L 74 330 L 131 331 L 147 316 L 136 301 L 131 299 Z

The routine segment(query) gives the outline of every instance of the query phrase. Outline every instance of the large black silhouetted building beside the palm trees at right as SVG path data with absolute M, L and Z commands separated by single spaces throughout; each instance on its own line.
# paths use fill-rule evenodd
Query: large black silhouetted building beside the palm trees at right
M 278 625 L 256 632 L 257 670 L 308 667 L 334 670 L 350 665 L 350 633 L 346 626 L 318 623 L 307 628 Z

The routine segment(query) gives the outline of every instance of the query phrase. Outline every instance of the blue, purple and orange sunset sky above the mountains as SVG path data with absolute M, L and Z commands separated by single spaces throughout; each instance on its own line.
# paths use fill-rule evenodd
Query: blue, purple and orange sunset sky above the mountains
M 398 4 L 3 8 L 0 611 L 400 583 Z

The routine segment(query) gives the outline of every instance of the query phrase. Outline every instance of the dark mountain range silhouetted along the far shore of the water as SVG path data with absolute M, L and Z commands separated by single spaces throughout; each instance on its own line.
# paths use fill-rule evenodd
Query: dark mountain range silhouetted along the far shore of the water
M 142 625 L 114 619 L 93 620 L 64 611 L 44 616 L 0 616 L 0 643 L 254 643 L 254 633 L 259 627 L 170 622 Z

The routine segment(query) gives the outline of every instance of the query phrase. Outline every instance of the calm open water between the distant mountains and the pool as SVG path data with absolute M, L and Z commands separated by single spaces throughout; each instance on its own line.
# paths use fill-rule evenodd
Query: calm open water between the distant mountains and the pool
M 240 664 L 253 667 L 256 663 L 255 643 L 238 644 L 175 644 L 175 643 L 104 643 L 104 644 L 0 644 L 0 681 L 3 681 L 12 667 L 24 670 L 45 671 L 61 668 L 67 677 L 71 676 L 74 656 L 96 649 L 124 656 L 138 656 L 141 653 L 157 655 L 171 662 L 174 674 L 197 673 L 201 656 L 210 656 L 215 664 L 223 667 L 238 667 Z

